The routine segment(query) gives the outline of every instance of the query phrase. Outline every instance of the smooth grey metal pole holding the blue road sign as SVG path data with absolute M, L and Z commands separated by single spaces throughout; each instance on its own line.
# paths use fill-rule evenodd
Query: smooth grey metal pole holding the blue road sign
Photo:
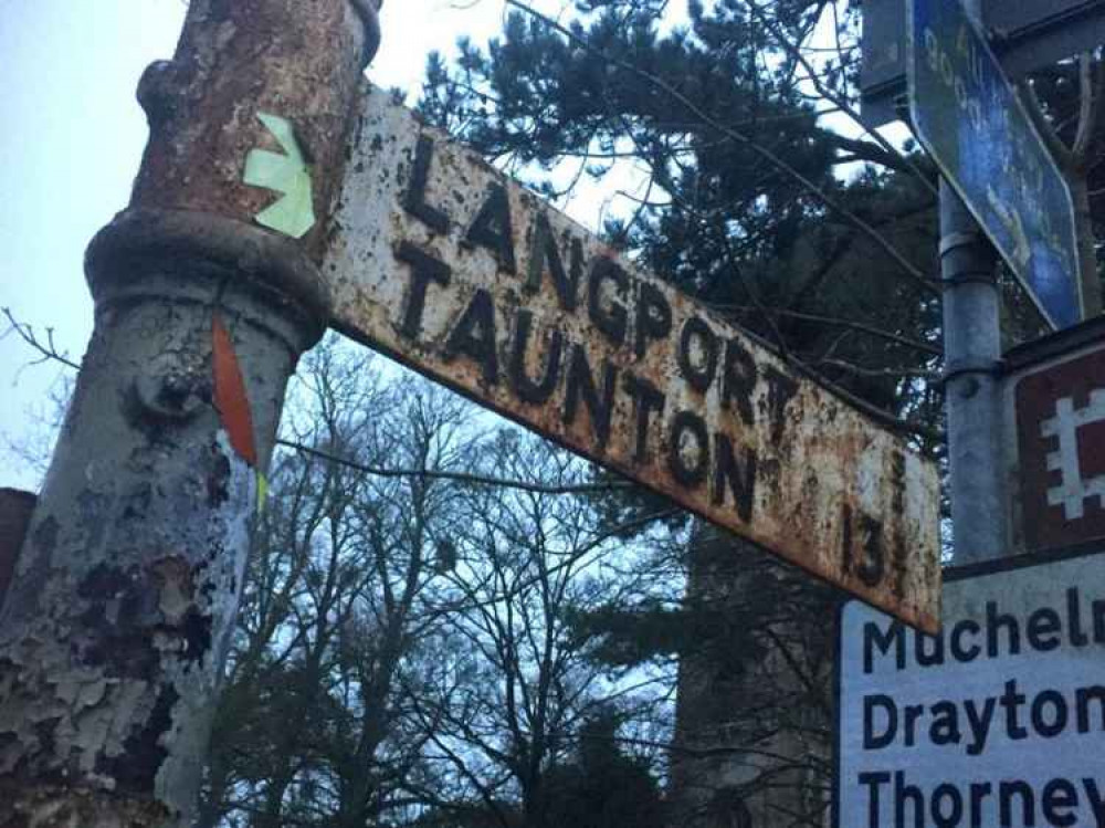
M 962 0 L 976 22 L 981 0 Z M 997 252 L 948 182 L 940 180 L 940 275 L 948 478 L 956 564 L 1008 554 L 1007 485 L 1001 462 L 1001 324 Z

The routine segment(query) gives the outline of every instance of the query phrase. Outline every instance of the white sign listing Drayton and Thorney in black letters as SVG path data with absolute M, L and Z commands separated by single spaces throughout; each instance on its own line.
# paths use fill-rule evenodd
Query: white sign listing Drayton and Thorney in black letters
M 1105 826 L 1105 555 L 947 576 L 943 631 L 845 606 L 838 828 Z

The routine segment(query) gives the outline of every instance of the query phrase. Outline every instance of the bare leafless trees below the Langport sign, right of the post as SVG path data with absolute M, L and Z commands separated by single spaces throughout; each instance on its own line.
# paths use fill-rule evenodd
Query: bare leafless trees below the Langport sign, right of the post
M 617 789 L 660 825 L 652 765 L 614 738 L 652 682 L 573 625 L 640 556 L 587 464 L 334 344 L 290 408 L 201 824 L 550 828 Z

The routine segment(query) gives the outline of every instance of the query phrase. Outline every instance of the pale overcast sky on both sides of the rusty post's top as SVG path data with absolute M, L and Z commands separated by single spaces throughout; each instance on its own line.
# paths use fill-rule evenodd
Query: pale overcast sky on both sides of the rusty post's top
M 92 332 L 84 249 L 127 203 L 146 143 L 134 91 L 172 55 L 185 11 L 183 0 L 0 0 L 0 307 L 53 327 L 77 359 Z M 369 76 L 414 99 L 431 50 L 453 52 L 462 34 L 486 42 L 503 13 L 502 0 L 390 0 Z M 63 371 L 33 358 L 0 340 L 0 441 L 29 440 L 30 412 L 49 410 Z M 20 467 L 0 450 L 0 486 L 33 485 Z

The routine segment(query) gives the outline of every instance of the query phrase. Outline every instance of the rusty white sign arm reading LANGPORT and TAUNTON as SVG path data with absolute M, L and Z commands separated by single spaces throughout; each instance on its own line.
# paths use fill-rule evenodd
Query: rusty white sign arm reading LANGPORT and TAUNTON
M 387 93 L 350 153 L 335 327 L 933 627 L 937 478 L 903 439 Z

